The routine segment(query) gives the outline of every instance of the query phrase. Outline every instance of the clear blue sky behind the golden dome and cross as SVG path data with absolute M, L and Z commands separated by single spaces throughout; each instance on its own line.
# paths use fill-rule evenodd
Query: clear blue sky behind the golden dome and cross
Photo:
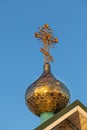
M 87 0 L 0 0 L 0 130 L 33 130 L 25 91 L 42 73 L 42 43 L 34 37 L 48 23 L 59 43 L 51 49 L 52 73 L 87 106 Z

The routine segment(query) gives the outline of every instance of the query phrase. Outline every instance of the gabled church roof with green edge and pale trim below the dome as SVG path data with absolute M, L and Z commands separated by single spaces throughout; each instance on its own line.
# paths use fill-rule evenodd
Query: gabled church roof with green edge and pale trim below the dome
M 87 130 L 87 107 L 76 100 L 34 130 L 60 130 L 65 124 L 70 130 Z

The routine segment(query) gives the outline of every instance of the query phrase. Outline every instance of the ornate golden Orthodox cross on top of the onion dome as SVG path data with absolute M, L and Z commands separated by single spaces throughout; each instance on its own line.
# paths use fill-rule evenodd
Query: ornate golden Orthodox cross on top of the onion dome
M 53 32 L 48 24 L 38 28 L 39 31 L 35 32 L 35 37 L 43 42 L 44 48 L 40 51 L 44 54 L 44 63 L 53 62 L 53 57 L 49 53 L 49 47 L 54 47 L 55 43 L 58 42 L 58 38 L 54 38 Z

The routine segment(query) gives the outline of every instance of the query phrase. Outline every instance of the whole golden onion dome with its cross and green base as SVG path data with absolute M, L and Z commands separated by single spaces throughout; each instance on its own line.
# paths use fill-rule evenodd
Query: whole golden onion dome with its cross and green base
M 40 49 L 44 54 L 43 73 L 27 88 L 25 100 L 29 110 L 40 116 L 41 123 L 43 123 L 67 106 L 70 92 L 61 81 L 54 77 L 49 64 L 50 61 L 54 61 L 49 50 L 58 42 L 58 38 L 54 37 L 48 24 L 38 29 L 35 37 L 43 42 Z

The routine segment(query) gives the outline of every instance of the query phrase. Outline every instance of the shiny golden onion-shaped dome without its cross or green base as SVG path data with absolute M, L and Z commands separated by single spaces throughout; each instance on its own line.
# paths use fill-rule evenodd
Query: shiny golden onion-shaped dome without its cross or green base
M 42 75 L 28 87 L 25 99 L 30 111 L 40 116 L 43 112 L 57 113 L 64 108 L 68 104 L 70 93 L 66 86 L 53 76 L 49 63 L 46 63 Z

